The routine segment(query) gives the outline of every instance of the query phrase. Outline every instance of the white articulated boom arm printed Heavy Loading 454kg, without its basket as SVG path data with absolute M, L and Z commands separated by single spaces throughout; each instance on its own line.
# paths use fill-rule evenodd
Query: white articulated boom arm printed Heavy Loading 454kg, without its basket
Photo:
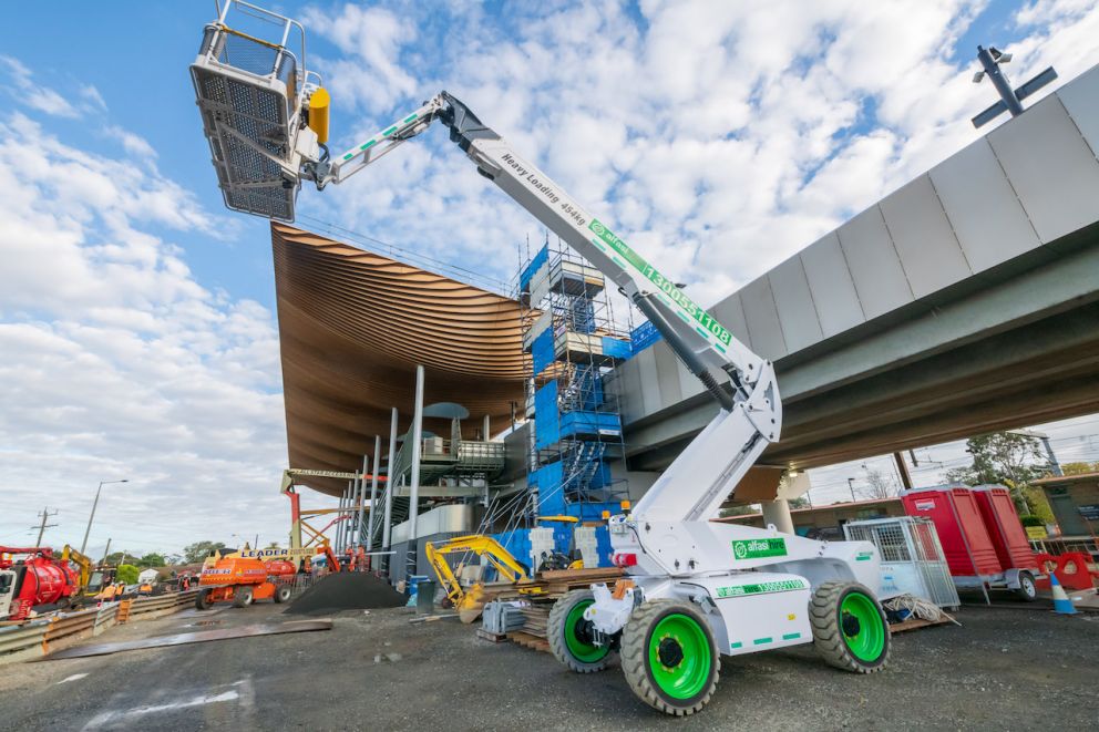
M 450 128 L 451 141 L 474 162 L 479 173 L 618 285 L 717 399 L 720 413 L 634 511 L 636 518 L 711 518 L 763 449 L 779 436 L 782 411 L 771 363 L 737 340 L 468 106 L 441 92 L 342 155 L 304 166 L 302 175 L 311 177 L 318 188 L 342 183 L 435 120 Z M 731 394 L 718 381 L 721 372 L 732 382 Z

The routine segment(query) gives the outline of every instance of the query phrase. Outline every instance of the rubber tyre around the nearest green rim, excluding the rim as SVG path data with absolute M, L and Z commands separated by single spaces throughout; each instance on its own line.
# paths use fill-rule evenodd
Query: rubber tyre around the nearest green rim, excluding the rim
M 686 615 L 694 619 L 710 641 L 710 677 L 702 690 L 690 699 L 675 699 L 664 693 L 653 680 L 649 669 L 648 647 L 653 630 L 661 619 L 674 614 Z M 687 716 L 701 711 L 718 688 L 718 680 L 721 677 L 721 656 L 718 653 L 718 645 L 713 640 L 710 623 L 695 605 L 670 599 L 649 600 L 634 610 L 622 631 L 622 670 L 626 674 L 629 688 L 646 704 L 665 714 Z

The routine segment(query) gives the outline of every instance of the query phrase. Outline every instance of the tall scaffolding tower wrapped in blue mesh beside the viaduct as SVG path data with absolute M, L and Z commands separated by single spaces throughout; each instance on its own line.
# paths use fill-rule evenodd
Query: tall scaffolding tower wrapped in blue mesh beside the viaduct
M 605 287 L 603 275 L 561 243 L 546 240 L 521 270 L 523 350 L 531 354 L 528 499 L 516 503 L 526 515 L 511 526 L 531 527 L 538 516 L 598 522 L 628 497 L 626 481 L 612 476 L 610 462 L 624 460 L 625 444 L 618 398 L 604 392 L 603 378 L 630 357 L 630 338 L 615 320 Z M 501 539 L 523 556 L 525 537 L 514 534 Z M 609 551 L 609 538 L 598 538 Z M 557 550 L 567 553 L 571 539 L 568 525 L 557 525 Z

